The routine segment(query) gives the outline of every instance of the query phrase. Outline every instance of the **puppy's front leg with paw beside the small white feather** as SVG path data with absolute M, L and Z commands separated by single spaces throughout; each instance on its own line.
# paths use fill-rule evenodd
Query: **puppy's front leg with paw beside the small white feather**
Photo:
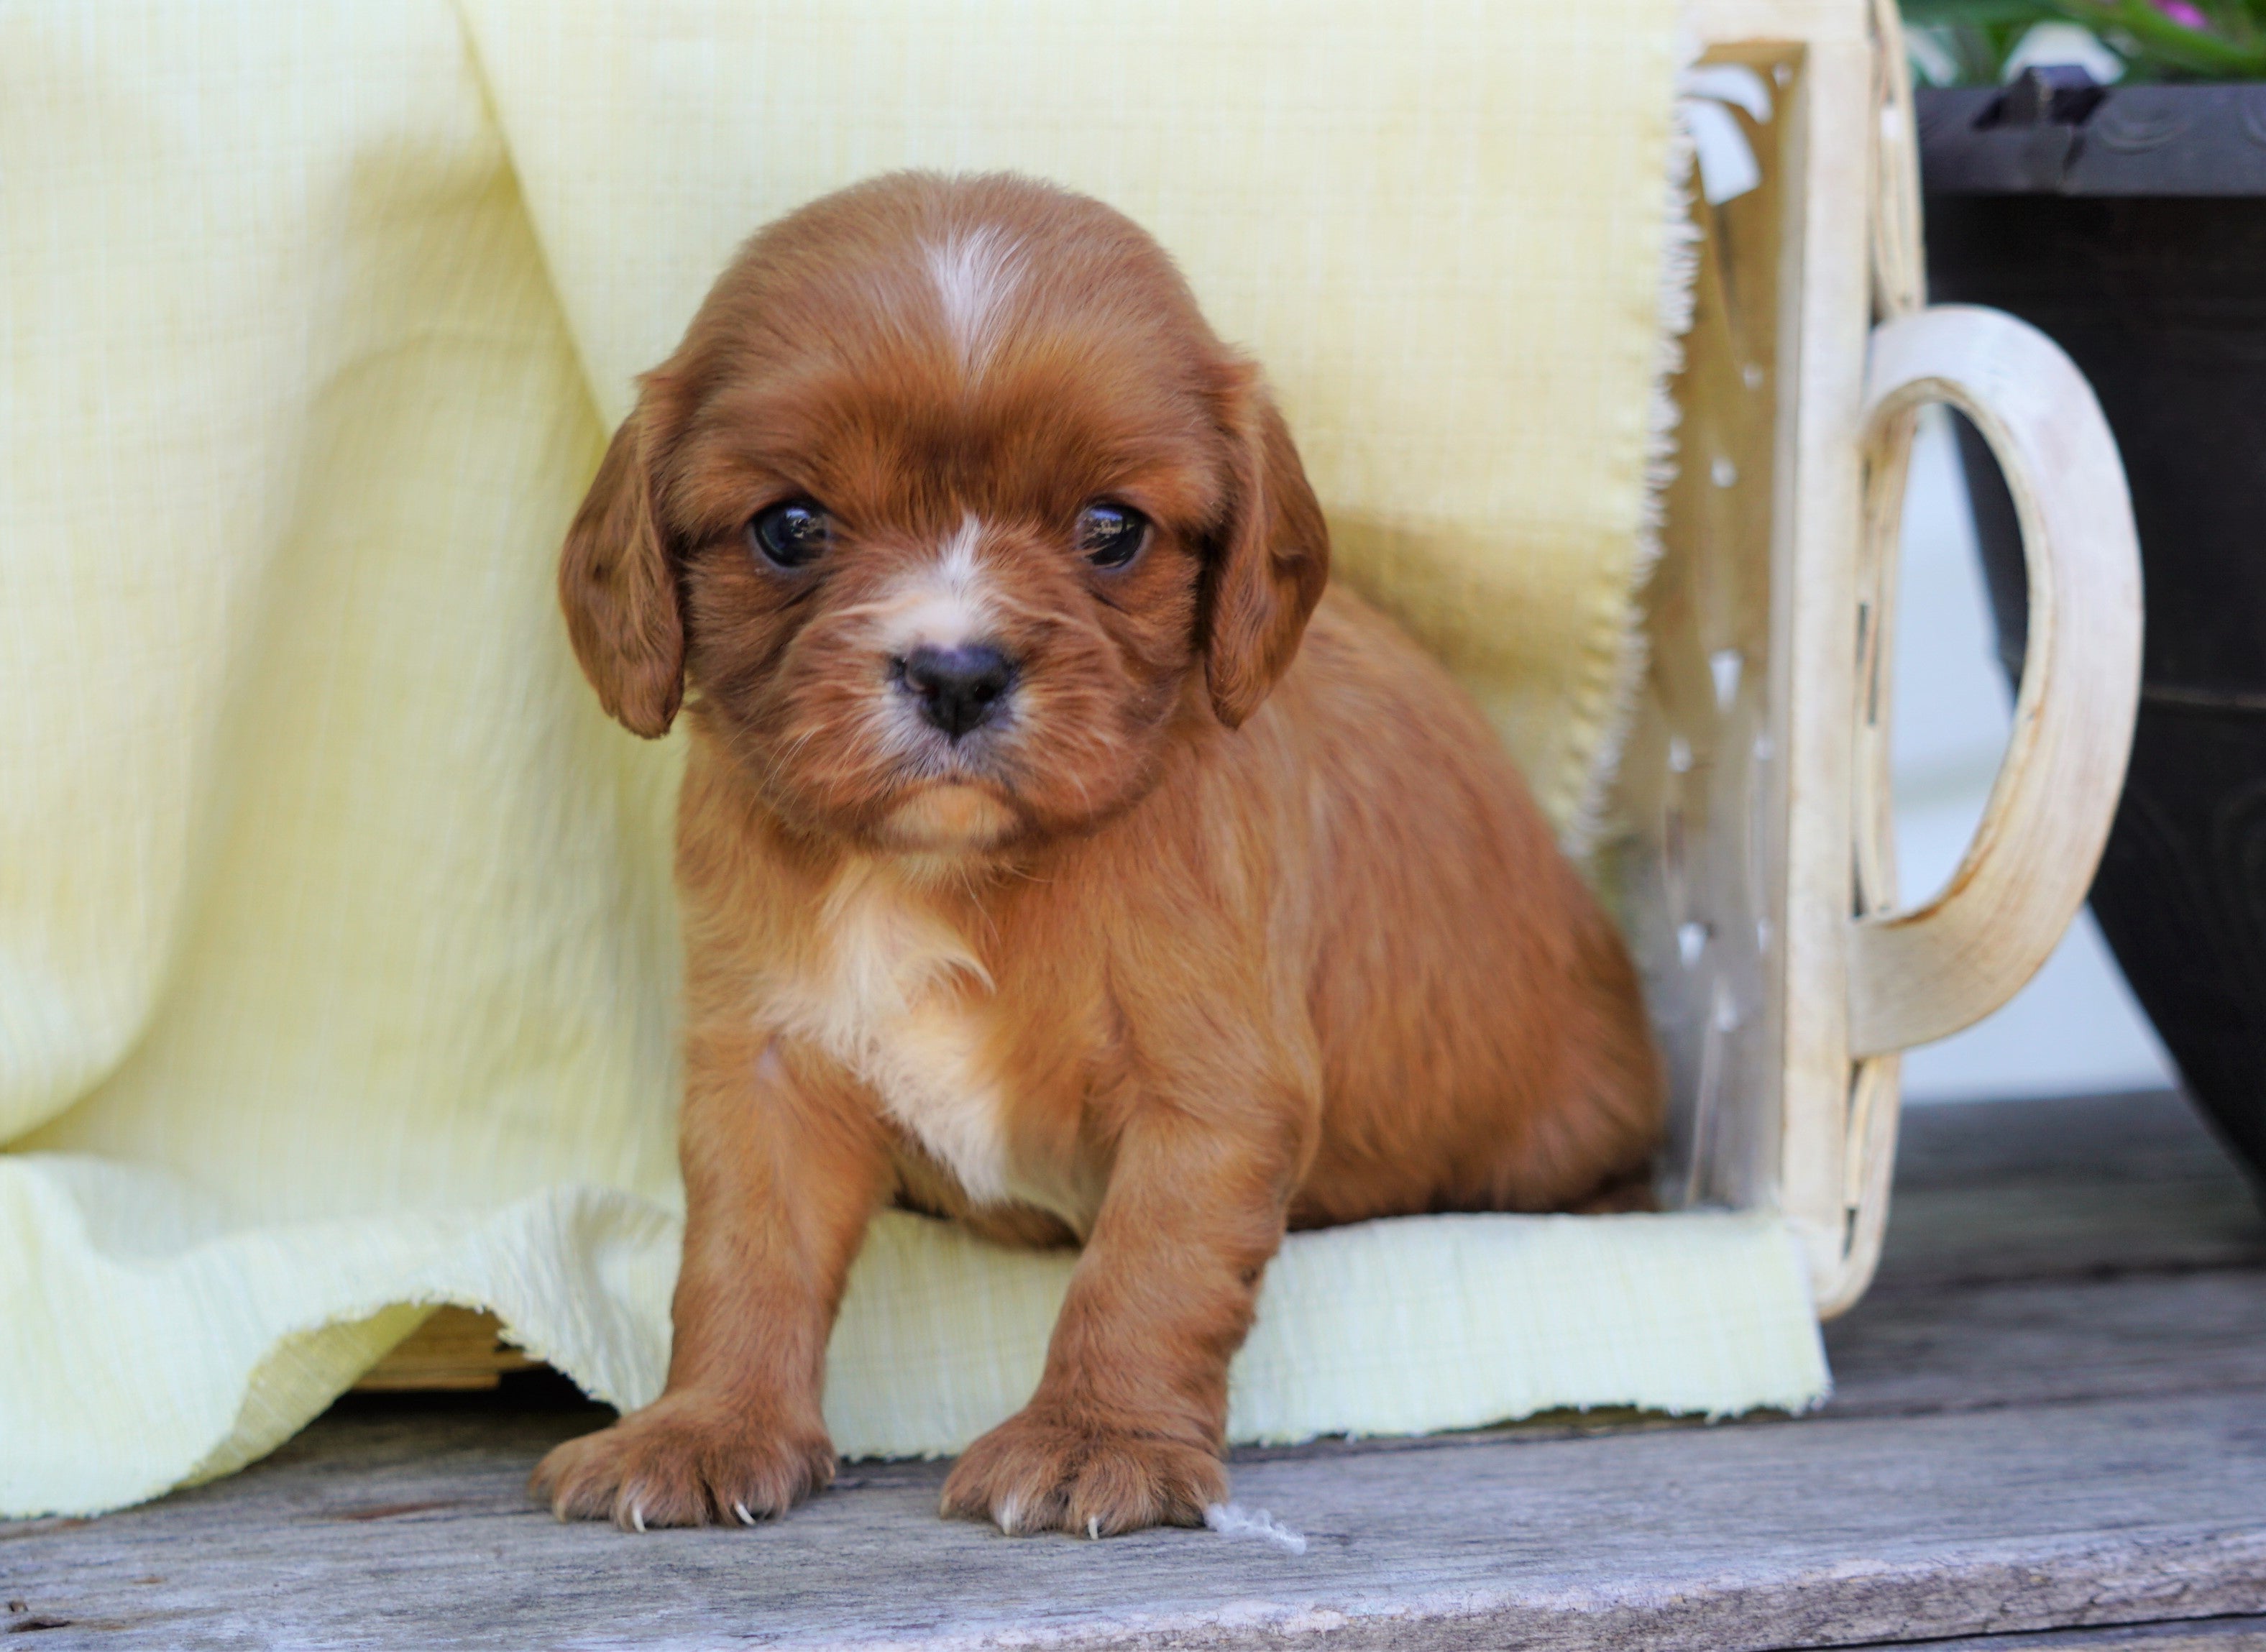
M 943 1514 L 1115 1536 L 1203 1525 L 1226 1498 L 1228 1360 L 1283 1244 L 1296 1163 L 1262 1124 L 1133 1117 L 1038 1391 L 968 1448 Z

